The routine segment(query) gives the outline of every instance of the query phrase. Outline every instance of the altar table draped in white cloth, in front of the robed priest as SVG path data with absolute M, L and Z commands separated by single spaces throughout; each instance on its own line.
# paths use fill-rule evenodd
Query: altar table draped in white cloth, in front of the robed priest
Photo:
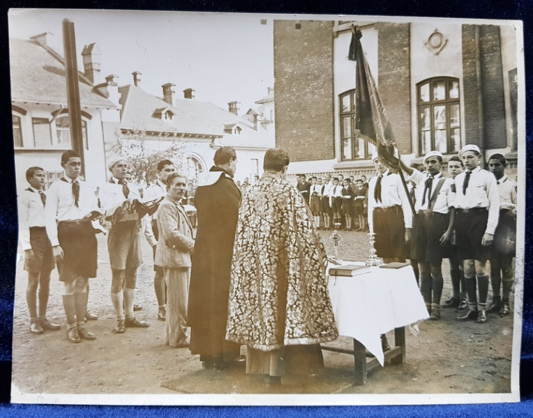
M 410 265 L 398 269 L 370 267 L 370 272 L 354 277 L 329 276 L 328 290 L 338 334 L 351 336 L 354 350 L 324 344 L 322 350 L 353 354 L 358 385 L 364 385 L 367 371 L 383 366 L 385 359 L 402 363 L 405 326 L 429 317 Z M 395 346 L 383 353 L 380 335 L 391 330 L 395 330 Z M 375 357 L 367 360 L 365 348 Z

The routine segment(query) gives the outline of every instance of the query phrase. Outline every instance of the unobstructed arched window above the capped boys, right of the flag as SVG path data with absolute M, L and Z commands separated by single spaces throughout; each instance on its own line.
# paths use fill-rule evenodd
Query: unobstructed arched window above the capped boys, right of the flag
M 459 79 L 435 77 L 416 88 L 418 105 L 419 155 L 430 150 L 443 154 L 460 149 Z

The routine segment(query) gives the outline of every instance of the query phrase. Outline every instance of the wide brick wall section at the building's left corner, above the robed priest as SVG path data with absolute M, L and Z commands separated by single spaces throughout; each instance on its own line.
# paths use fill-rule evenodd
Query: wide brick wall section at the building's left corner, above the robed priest
M 274 21 L 276 146 L 292 161 L 335 156 L 332 27 L 333 22 Z

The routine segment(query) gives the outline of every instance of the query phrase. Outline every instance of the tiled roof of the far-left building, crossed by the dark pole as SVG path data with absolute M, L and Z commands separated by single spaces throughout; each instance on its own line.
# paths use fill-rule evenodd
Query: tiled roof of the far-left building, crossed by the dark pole
M 67 104 L 65 65 L 59 54 L 32 40 L 10 39 L 9 60 L 11 100 Z M 80 102 L 82 107 L 117 108 L 81 75 Z

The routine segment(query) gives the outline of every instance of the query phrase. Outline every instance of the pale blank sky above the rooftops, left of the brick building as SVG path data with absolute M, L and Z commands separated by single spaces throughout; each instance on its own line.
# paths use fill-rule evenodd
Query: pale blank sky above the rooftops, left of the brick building
M 74 24 L 78 70 L 84 45 L 96 42 L 100 78 L 118 75 L 119 86 L 142 72 L 144 91 L 163 96 L 161 86 L 176 84 L 178 98 L 193 88 L 195 100 L 223 109 L 237 100 L 239 114 L 273 87 L 273 22 L 266 16 L 124 10 L 12 9 L 10 38 L 29 39 L 50 32 L 49 45 L 64 56 L 64 19 Z

